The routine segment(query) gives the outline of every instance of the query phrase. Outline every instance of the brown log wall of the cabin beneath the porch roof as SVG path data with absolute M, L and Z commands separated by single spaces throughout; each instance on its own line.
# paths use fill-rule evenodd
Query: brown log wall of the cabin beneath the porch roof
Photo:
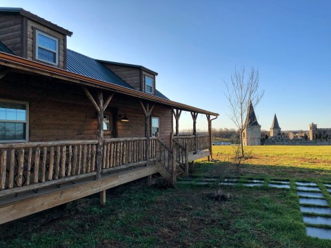
M 91 93 L 97 99 L 97 92 Z M 104 99 L 107 96 L 107 93 L 103 94 Z M 77 85 L 10 72 L 1 80 L 0 99 L 29 103 L 30 142 L 97 138 L 97 111 Z M 115 93 L 108 106 L 107 110 L 115 109 L 130 120 L 123 122 L 118 118 L 117 137 L 145 136 L 145 116 L 139 99 Z M 160 138 L 169 145 L 171 109 L 155 105 L 151 115 L 160 118 Z

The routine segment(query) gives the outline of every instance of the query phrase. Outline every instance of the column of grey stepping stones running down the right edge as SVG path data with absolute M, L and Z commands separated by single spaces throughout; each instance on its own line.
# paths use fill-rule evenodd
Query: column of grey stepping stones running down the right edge
M 303 213 L 303 223 L 307 235 L 315 238 L 331 239 L 331 209 L 328 201 L 317 187 L 317 183 L 312 182 L 295 182 L 297 195 L 299 196 L 300 211 Z M 331 187 L 331 184 L 325 183 L 325 187 Z M 328 189 L 328 188 L 327 188 Z M 331 190 L 331 189 L 330 189 Z M 328 192 L 331 192 L 328 190 Z M 314 215 L 309 215 L 314 214 Z M 324 225 L 325 227 L 311 227 L 309 225 Z

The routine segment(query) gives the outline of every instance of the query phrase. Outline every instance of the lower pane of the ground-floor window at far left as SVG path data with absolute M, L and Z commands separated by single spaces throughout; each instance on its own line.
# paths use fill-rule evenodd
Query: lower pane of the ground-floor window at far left
M 26 139 L 26 123 L 1 123 L 0 140 L 14 141 Z

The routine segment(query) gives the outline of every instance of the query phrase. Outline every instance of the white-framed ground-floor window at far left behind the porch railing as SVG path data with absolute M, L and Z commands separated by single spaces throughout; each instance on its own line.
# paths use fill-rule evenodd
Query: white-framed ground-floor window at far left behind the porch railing
M 28 141 L 28 103 L 0 100 L 0 142 Z

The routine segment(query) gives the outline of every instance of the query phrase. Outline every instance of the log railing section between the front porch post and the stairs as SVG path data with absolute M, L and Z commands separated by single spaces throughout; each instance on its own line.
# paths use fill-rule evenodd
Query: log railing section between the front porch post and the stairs
M 156 158 L 156 138 L 150 138 L 150 160 Z M 109 138 L 103 143 L 102 172 L 146 164 L 146 138 Z

